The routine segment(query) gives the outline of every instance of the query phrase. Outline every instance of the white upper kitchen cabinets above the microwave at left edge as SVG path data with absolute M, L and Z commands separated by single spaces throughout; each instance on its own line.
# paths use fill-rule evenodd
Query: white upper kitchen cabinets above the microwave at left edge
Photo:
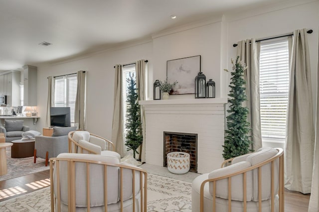
M 0 95 L 6 95 L 6 106 L 20 105 L 19 71 L 8 71 L 0 75 Z

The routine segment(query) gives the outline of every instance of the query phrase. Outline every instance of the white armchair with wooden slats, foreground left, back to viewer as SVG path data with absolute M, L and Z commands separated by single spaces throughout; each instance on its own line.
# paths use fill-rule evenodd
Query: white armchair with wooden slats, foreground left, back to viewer
M 147 212 L 147 172 L 115 156 L 59 154 L 50 179 L 52 212 Z

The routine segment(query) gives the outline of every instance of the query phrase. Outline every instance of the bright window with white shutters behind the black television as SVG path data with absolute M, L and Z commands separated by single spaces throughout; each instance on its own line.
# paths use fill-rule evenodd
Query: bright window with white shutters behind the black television
M 71 124 L 74 124 L 76 90 L 76 74 L 55 78 L 54 106 L 70 107 Z

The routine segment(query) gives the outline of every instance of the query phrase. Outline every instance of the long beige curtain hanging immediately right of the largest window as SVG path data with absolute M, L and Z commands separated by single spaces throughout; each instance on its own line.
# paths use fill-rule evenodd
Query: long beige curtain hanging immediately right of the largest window
M 295 30 L 286 124 L 285 187 L 304 194 L 311 192 L 314 162 L 315 129 L 311 88 L 307 30 Z

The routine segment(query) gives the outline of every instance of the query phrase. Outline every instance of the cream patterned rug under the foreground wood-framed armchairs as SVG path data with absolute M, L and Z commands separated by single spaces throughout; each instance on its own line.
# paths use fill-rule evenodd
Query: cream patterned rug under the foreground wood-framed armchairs
M 0 202 L 0 212 L 50 212 L 50 188 Z M 191 212 L 191 183 L 148 174 L 148 212 Z

